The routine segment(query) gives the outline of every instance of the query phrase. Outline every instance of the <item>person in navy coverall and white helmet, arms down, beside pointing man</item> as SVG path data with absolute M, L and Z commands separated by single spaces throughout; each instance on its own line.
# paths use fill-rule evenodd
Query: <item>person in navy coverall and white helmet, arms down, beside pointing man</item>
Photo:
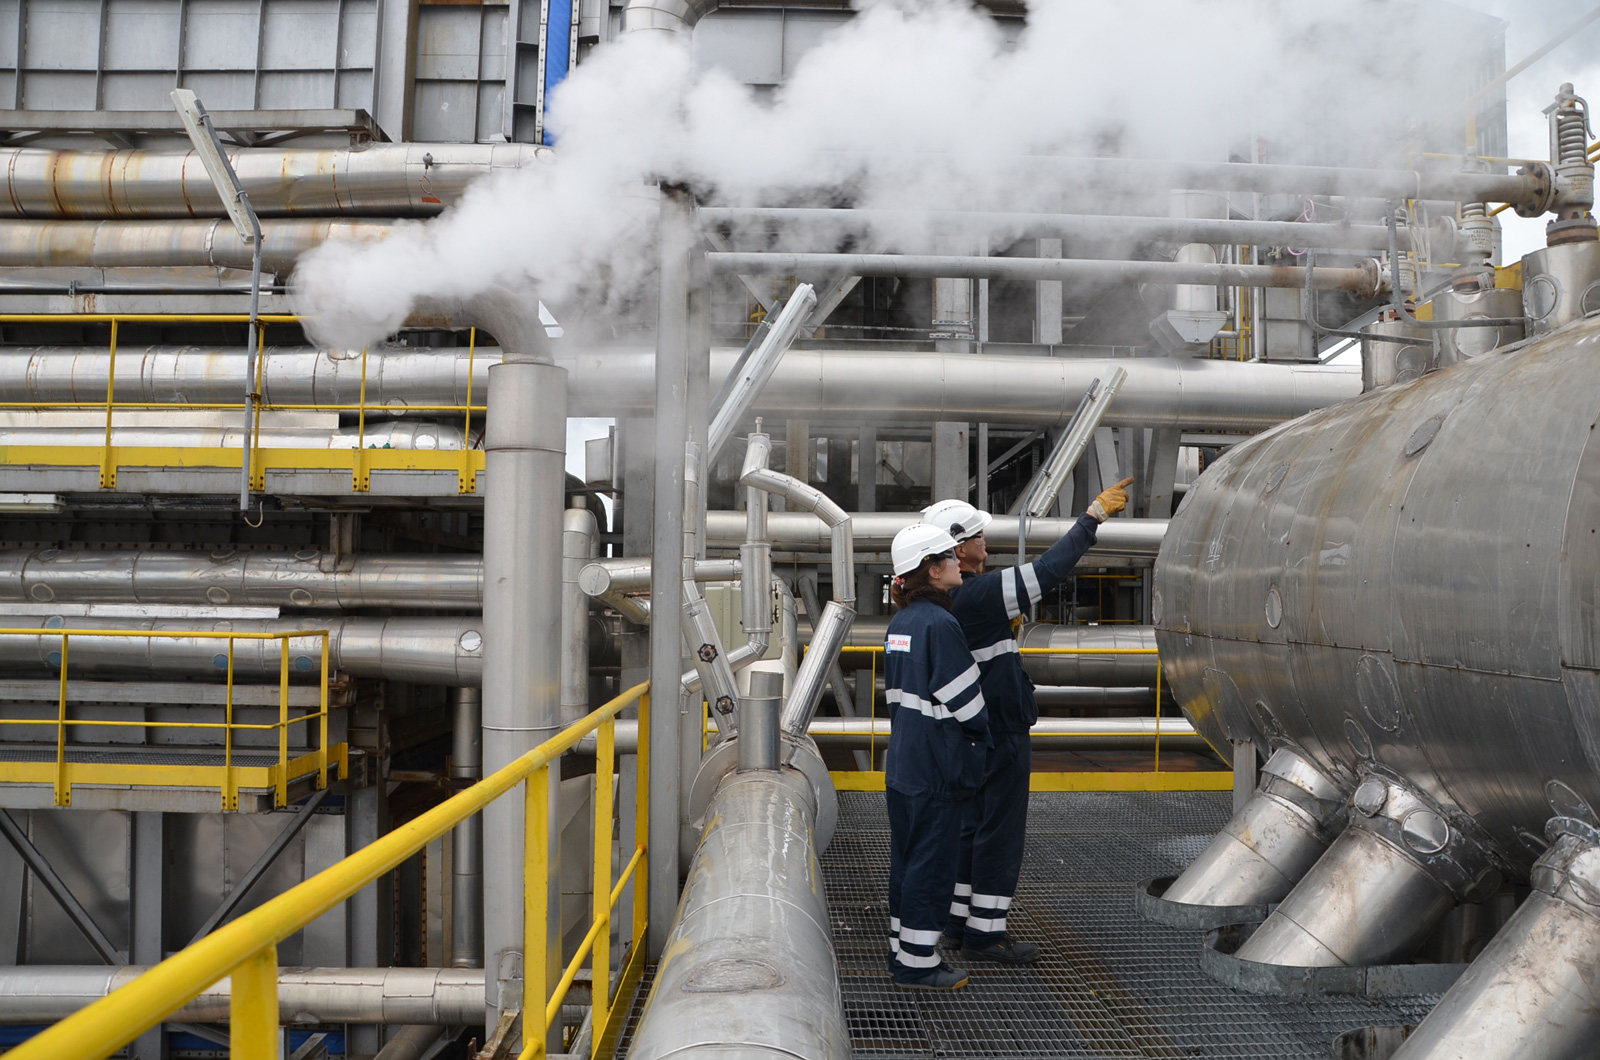
M 898 610 L 883 642 L 888 966 L 896 986 L 960 990 L 966 972 L 939 958 L 939 934 L 955 887 L 965 802 L 984 775 L 989 717 L 978 663 L 950 615 L 949 592 L 962 584 L 955 540 L 912 524 L 894 535 L 891 557 Z

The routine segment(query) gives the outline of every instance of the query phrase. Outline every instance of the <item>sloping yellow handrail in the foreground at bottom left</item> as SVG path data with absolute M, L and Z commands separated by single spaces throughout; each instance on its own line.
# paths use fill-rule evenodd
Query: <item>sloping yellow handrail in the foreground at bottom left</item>
M 32 1039 L 13 1049 L 10 1060 L 102 1060 L 123 1044 L 189 1004 L 202 991 L 232 974 L 230 998 L 232 1055 L 235 1060 L 266 1060 L 277 1057 L 277 945 L 301 930 L 323 913 L 336 908 L 384 873 L 392 871 L 413 853 L 438 839 L 451 828 L 480 812 L 490 802 L 523 781 L 528 783 L 526 799 L 534 809 L 549 801 L 547 775 L 539 777 L 563 751 L 576 746 L 597 729 L 613 730 L 616 716 L 630 703 L 640 703 L 640 773 L 646 777 L 648 732 L 648 684 L 640 684 L 595 709 L 582 721 L 550 737 L 504 769 L 485 777 L 466 791 L 446 799 L 421 817 L 406 821 L 376 842 L 344 858 L 338 865 L 291 887 L 277 898 L 224 924 L 200 942 L 162 961 L 126 986 L 112 991 L 94 1004 L 40 1031 Z M 610 783 L 610 778 L 606 778 Z M 643 802 L 643 801 L 642 801 Z M 547 809 L 547 807 L 546 807 Z M 536 916 L 525 922 L 525 953 L 544 953 L 544 895 L 549 885 L 549 821 L 528 821 L 525 865 L 525 892 L 534 895 Z M 645 833 L 640 833 L 645 834 Z M 538 857 L 539 853 L 546 857 Z M 642 858 L 640 858 L 642 861 Z M 643 869 L 648 871 L 648 869 Z M 643 897 L 645 879 L 635 884 L 635 927 L 638 927 L 637 903 Z M 602 884 L 595 884 L 597 890 Z M 637 938 L 637 935 L 635 935 Z M 523 1012 L 544 1009 L 546 982 L 544 961 L 528 959 L 523 966 Z M 605 980 L 598 975 L 595 996 L 605 993 Z M 538 999 L 534 1004 L 530 1001 Z M 600 1026 L 595 1041 L 600 1041 Z M 544 1055 L 544 1034 L 531 1042 L 523 1057 Z

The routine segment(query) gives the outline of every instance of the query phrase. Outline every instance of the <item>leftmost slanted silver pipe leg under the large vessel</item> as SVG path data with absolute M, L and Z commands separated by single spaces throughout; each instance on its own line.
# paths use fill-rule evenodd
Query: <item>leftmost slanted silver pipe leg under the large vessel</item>
M 1162 895 L 1200 906 L 1282 900 L 1344 829 L 1346 791 L 1306 756 L 1278 748 L 1261 786 Z

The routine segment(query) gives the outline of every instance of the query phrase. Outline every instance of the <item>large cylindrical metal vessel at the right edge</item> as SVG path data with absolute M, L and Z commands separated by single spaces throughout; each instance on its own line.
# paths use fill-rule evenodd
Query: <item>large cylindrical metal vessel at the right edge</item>
M 1195 727 L 1403 777 L 1514 874 L 1552 813 L 1595 821 L 1597 357 L 1573 323 L 1213 464 L 1152 597 Z

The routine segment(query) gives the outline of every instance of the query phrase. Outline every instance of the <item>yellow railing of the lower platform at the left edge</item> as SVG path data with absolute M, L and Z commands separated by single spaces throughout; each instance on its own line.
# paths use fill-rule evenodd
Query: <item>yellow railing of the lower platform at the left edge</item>
M 216 786 L 221 797 L 222 812 L 232 812 L 238 809 L 238 770 L 234 765 L 234 732 L 235 730 L 277 730 L 278 733 L 278 756 L 277 764 L 264 770 L 261 775 L 259 767 L 251 767 L 258 770 L 258 780 L 264 778 L 266 786 L 274 789 L 274 804 L 288 805 L 288 785 L 291 780 L 291 765 L 294 769 L 306 769 L 307 761 L 310 765 L 317 767 L 317 786 L 328 786 L 328 759 L 336 756 L 339 762 L 344 761 L 346 745 L 338 748 L 328 746 L 328 631 L 326 629 L 290 629 L 277 632 L 234 632 L 234 631 L 214 631 L 214 629 L 77 629 L 77 628 L 3 628 L 0 636 L 26 636 L 26 637 L 61 637 L 61 681 L 59 681 L 59 700 L 56 703 L 56 717 L 0 717 L 0 725 L 54 725 L 56 727 L 56 761 L 51 769 L 53 786 L 54 786 L 54 804 L 56 805 L 72 805 L 72 783 L 74 773 L 80 775 L 80 783 L 149 783 L 152 786 L 170 786 L 174 783 L 173 770 L 182 770 L 182 778 L 176 783 L 184 786 Z M 222 706 L 221 722 L 152 722 L 147 719 L 141 721 L 112 721 L 112 719 L 78 719 L 67 717 L 67 658 L 72 644 L 72 637 L 152 637 L 165 640 L 178 639 L 200 639 L 200 640 L 227 640 L 227 685 L 226 698 Z M 318 692 L 318 708 L 315 713 L 299 714 L 290 717 L 290 640 L 320 640 L 322 642 L 322 689 Z M 234 721 L 234 645 L 238 640 L 278 640 L 278 721 L 275 722 L 259 722 L 246 724 Z M 290 727 L 299 725 L 302 722 L 320 722 L 318 733 L 320 740 L 314 754 L 290 761 Z M 222 730 L 222 767 L 218 770 L 214 765 L 195 765 L 195 767 L 150 767 L 150 765 L 88 765 L 88 764 L 69 764 L 67 762 L 67 729 L 72 725 L 88 725 L 88 727 L 106 727 L 106 729 L 221 729 Z M 158 780 L 142 780 L 147 773 L 155 772 Z M 83 778 L 83 775 L 88 775 Z M 293 778 L 302 777 L 306 773 L 294 773 Z M 38 783 L 40 767 L 37 764 L 11 764 L 0 762 L 0 783 Z M 250 785 L 256 786 L 256 785 Z

